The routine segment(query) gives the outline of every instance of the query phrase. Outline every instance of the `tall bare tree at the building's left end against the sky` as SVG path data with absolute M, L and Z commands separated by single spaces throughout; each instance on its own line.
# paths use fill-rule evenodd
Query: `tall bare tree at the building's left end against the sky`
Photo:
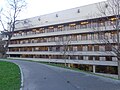
M 8 50 L 12 35 L 15 31 L 16 24 L 18 24 L 18 17 L 21 11 L 26 7 L 25 0 L 6 0 L 6 2 L 7 8 L 2 8 L 0 10 L 0 25 L 3 28 L 2 34 L 7 36 L 7 40 L 4 46 L 5 55 Z

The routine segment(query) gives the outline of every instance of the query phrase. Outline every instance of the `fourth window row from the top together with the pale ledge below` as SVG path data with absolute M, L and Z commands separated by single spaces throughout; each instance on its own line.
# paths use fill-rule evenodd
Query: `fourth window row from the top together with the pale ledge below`
M 43 54 L 43 55 L 39 55 L 39 54 L 30 54 L 30 53 L 28 53 L 28 54 L 20 54 L 20 53 L 17 53 L 17 54 L 15 54 L 15 53 L 8 53 L 9 54 L 9 57 L 16 57 L 16 58 L 25 58 L 25 59 L 27 59 L 28 58 L 28 60 L 30 60 L 30 59 L 33 59 L 33 60 L 43 60 L 43 61 L 45 61 L 45 60 L 47 60 L 47 61 L 52 61 L 52 60 L 54 60 L 54 61 L 64 61 L 64 60 L 66 60 L 66 61 L 68 61 L 69 63 L 71 62 L 71 63 L 73 63 L 73 62 L 75 62 L 76 64 L 79 64 L 79 62 L 81 62 L 80 64 L 83 64 L 84 62 L 86 62 L 86 63 L 84 63 L 84 64 L 91 64 L 91 63 L 97 63 L 97 62 L 99 62 L 98 63 L 98 65 L 101 65 L 101 62 L 102 62 L 102 64 L 103 65 L 115 65 L 115 66 L 117 66 L 117 59 L 116 59 L 116 57 L 112 57 L 112 56 L 80 56 L 80 55 L 66 55 L 66 57 L 64 57 L 64 56 L 62 56 L 62 55 L 47 55 L 47 54 Z M 65 59 L 66 58 L 66 59 Z M 116 64 L 115 64 L 116 63 Z M 94 64 L 95 65 L 95 64 Z

